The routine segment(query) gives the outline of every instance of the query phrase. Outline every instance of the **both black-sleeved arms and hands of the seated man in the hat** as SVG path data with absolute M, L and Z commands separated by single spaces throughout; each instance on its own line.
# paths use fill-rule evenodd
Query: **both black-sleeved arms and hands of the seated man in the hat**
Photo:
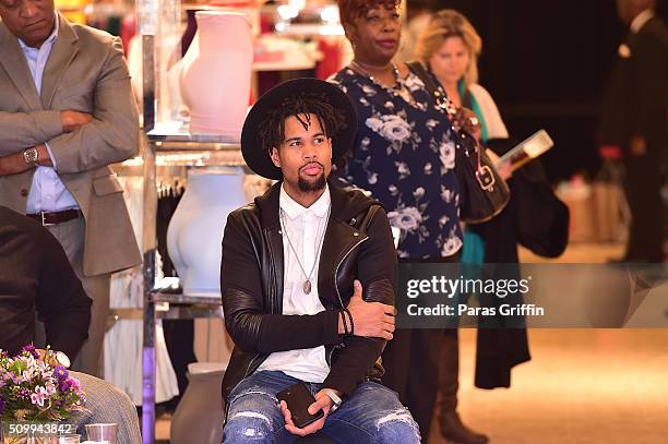
M 354 336 L 342 336 L 344 327 L 337 310 L 325 310 L 314 315 L 264 312 L 262 298 L 259 297 L 263 292 L 260 280 L 239 279 L 241 276 L 259 276 L 260 269 L 250 233 L 236 217 L 232 213 L 225 227 L 220 273 L 225 323 L 235 344 L 244 350 L 258 352 L 343 345 L 323 382 L 325 388 L 315 395 L 317 400 L 309 408 L 312 413 L 323 410 L 325 415 L 321 420 L 298 429 L 291 421 L 287 406 L 282 403 L 281 409 L 290 433 L 313 433 L 323 427 L 333 405 L 326 391 L 333 389 L 338 396 L 354 392 L 380 357 L 386 340 L 392 339 L 392 280 L 396 255 L 386 215 L 378 207 L 367 230 L 370 239 L 362 244 L 358 255 L 357 266 L 365 281 L 366 293 L 362 298 L 362 284 L 356 281 L 347 305 L 355 323 Z M 249 241 L 244 242 L 246 239 Z

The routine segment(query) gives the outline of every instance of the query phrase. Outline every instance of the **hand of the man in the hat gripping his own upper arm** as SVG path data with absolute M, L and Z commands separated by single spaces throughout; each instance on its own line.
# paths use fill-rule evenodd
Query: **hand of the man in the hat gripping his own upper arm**
M 391 340 L 394 333 L 394 307 L 381 302 L 366 302 L 361 297 L 361 283 L 357 279 L 354 289 L 347 308 L 355 324 L 355 336 L 382 337 Z M 341 319 L 338 333 L 345 333 Z

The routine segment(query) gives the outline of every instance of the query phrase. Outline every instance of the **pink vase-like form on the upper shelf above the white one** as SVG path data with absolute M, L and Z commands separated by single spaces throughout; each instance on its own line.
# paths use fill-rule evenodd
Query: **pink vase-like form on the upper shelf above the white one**
M 240 139 L 250 97 L 253 43 L 246 14 L 198 11 L 198 33 L 183 56 L 181 95 L 190 132 Z

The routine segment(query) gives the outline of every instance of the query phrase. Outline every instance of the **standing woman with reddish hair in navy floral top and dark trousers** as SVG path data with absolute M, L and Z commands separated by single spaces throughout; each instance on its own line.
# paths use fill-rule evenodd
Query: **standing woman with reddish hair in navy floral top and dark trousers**
M 355 58 L 331 81 L 355 104 L 359 128 L 338 173 L 383 204 L 391 224 L 401 229 L 399 260 L 456 262 L 462 230 L 454 128 L 425 84 L 405 64 L 392 63 L 401 38 L 398 3 L 338 1 Z M 425 443 L 442 335 L 442 329 L 397 329 L 383 352 L 383 383 L 409 408 Z

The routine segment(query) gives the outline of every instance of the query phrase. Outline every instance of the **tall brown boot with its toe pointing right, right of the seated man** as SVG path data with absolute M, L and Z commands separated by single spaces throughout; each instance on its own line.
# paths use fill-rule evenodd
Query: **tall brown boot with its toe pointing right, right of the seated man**
M 441 346 L 439 375 L 439 429 L 456 444 L 485 444 L 489 439 L 462 423 L 457 413 L 460 388 L 460 340 L 456 329 L 446 329 Z

